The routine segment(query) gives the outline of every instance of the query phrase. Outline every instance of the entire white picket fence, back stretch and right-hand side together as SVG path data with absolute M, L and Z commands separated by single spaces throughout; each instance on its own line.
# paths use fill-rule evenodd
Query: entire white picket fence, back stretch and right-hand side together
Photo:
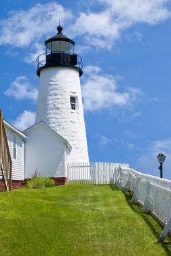
M 171 181 L 143 174 L 129 164 L 92 162 L 70 163 L 68 183 L 86 185 L 115 184 L 118 189 L 132 191 L 131 203 L 139 203 L 143 212 L 151 212 L 165 228 L 158 241 L 163 241 L 171 228 Z

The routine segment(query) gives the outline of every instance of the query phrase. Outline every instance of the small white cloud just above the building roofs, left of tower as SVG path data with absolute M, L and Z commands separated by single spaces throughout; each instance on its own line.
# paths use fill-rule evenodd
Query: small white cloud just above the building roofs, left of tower
M 34 125 L 36 113 L 28 110 L 24 110 L 17 119 L 13 122 L 13 126 L 18 128 L 20 131 L 26 130 L 28 127 Z

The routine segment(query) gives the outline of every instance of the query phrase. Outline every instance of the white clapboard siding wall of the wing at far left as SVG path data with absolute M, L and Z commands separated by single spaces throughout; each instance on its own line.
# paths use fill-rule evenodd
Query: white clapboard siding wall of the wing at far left
M 18 135 L 17 133 L 13 133 L 13 131 L 8 127 L 5 127 L 5 131 L 7 133 L 9 152 L 11 154 L 12 160 L 12 180 L 21 181 L 22 179 L 24 179 L 24 147 L 22 137 L 20 137 L 20 135 Z M 16 135 L 16 159 L 13 159 L 13 134 Z

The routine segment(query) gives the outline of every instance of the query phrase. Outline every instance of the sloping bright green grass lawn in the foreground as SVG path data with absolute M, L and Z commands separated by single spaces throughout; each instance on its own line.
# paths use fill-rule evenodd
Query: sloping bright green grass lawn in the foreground
M 69 184 L 0 193 L 0 255 L 171 255 L 162 228 L 131 195 Z

